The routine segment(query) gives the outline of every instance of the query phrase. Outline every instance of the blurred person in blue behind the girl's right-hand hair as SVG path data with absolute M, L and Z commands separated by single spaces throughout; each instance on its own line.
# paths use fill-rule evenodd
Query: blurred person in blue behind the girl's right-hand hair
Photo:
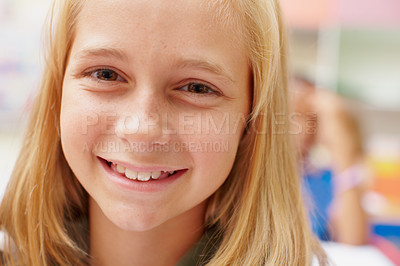
M 295 78 L 291 93 L 291 133 L 311 205 L 312 229 L 321 240 L 366 244 L 369 227 L 361 199 L 368 171 L 357 121 L 338 95 L 316 90 L 305 78 Z M 324 150 L 328 156 L 322 156 Z M 328 164 L 320 162 L 324 157 Z

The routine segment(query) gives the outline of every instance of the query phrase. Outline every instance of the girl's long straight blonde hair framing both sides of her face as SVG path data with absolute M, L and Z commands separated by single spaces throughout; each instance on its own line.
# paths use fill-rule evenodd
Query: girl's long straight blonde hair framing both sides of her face
M 12 239 L 6 264 L 88 263 L 87 240 L 79 237 L 88 235 L 87 228 L 77 222 L 87 219 L 88 196 L 67 165 L 59 134 L 63 76 L 83 2 L 65 1 L 51 29 L 41 91 L 0 207 L 0 226 Z M 208 265 L 309 265 L 313 254 L 323 262 L 303 209 L 288 123 L 274 134 L 274 114 L 287 113 L 286 40 L 278 3 L 210 5 L 219 8 L 219 19 L 236 21 L 245 36 L 253 103 L 233 169 L 209 201 L 207 222 L 218 225 L 222 242 Z

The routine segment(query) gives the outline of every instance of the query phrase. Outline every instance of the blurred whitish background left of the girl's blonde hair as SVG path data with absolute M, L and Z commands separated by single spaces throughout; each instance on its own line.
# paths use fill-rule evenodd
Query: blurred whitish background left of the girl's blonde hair
M 0 0 L 0 197 L 21 147 L 41 76 L 49 0 Z

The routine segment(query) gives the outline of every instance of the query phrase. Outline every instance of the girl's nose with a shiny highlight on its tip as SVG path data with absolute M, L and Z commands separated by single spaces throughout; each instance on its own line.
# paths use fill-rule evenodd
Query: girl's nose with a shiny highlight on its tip
M 166 145 L 169 136 L 164 134 L 167 123 L 166 103 L 159 92 L 136 91 L 119 108 L 115 134 L 129 145 L 151 148 Z

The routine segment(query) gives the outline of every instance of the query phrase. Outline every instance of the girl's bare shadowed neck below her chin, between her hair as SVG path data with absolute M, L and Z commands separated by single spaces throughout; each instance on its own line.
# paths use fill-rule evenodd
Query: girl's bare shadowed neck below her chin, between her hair
M 206 203 L 144 232 L 125 231 L 113 224 L 90 199 L 92 265 L 175 265 L 204 231 Z

